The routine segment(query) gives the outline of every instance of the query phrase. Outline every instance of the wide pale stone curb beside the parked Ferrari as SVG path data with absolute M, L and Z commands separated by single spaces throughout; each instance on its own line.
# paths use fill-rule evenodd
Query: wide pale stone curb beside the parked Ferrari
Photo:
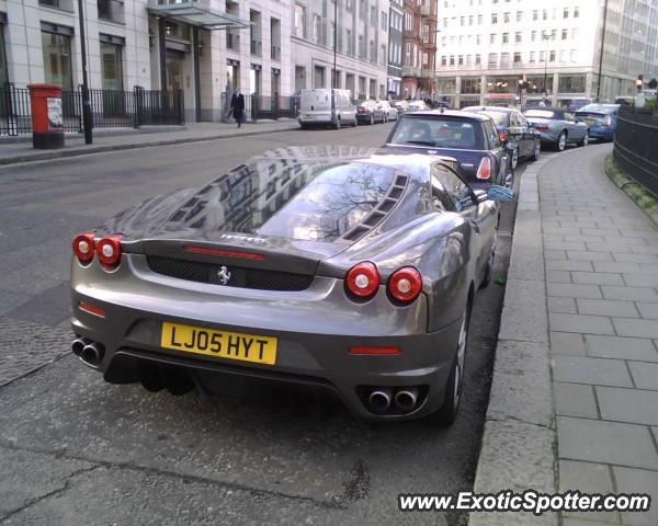
M 557 447 L 537 185 L 542 168 L 556 158 L 544 157 L 529 164 L 521 179 L 475 493 L 556 492 Z M 558 516 L 472 512 L 468 524 L 557 526 Z

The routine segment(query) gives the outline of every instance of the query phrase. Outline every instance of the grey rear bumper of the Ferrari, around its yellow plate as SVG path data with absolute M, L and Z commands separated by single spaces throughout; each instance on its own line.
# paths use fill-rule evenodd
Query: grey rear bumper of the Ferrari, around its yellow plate
M 345 312 L 345 306 L 337 305 L 337 297 L 344 296 L 342 286 L 320 283 L 317 290 L 298 293 L 304 300 L 288 305 L 273 301 L 279 304 L 276 316 L 275 310 L 269 310 L 275 306 L 262 299 L 242 298 L 240 302 L 188 288 L 172 290 L 161 283 L 145 284 L 135 275 L 139 273 L 139 258 L 131 259 L 131 268 L 120 270 L 124 276 L 114 276 L 111 288 L 104 288 L 107 276 L 102 274 L 100 279 L 87 275 L 79 279 L 79 272 L 93 274 L 93 270 L 73 268 L 72 273 L 72 330 L 102 346 L 102 358 L 87 365 L 107 381 L 145 384 L 146 371 L 155 387 L 168 387 L 167 379 L 180 375 L 211 393 L 222 392 L 223 384 L 236 378 L 317 386 L 338 393 L 353 413 L 367 420 L 423 416 L 443 403 L 460 320 L 428 333 L 422 295 L 412 306 L 388 306 L 383 311 L 387 301 L 384 293 L 372 305 L 352 306 Z M 322 310 L 327 305 L 330 308 Z M 89 306 L 97 313 L 90 312 Z M 269 365 L 164 348 L 164 323 L 276 339 L 276 358 Z M 389 354 L 368 354 L 381 348 Z M 397 351 L 390 354 L 390 350 Z M 401 410 L 393 399 L 406 388 L 417 392 L 418 399 L 411 409 Z M 382 411 L 371 405 L 370 395 L 375 390 L 390 393 L 389 408 Z

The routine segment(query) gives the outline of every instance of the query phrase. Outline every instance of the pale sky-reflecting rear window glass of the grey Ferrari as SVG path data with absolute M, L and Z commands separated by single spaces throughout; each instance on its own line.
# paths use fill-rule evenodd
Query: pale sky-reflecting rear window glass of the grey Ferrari
M 394 168 L 365 162 L 321 171 L 256 231 L 304 241 L 333 241 L 377 206 L 395 174 Z

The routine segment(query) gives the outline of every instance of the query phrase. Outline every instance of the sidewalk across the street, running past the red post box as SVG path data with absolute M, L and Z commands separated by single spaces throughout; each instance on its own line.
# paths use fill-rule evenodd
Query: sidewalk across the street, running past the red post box
M 155 127 L 145 130 L 126 130 L 117 135 L 98 134 L 92 145 L 84 145 L 83 136 L 66 136 L 66 147 L 58 150 L 35 150 L 32 142 L 2 142 L 0 139 L 0 164 L 15 164 L 19 162 L 42 161 L 64 157 L 77 157 L 112 150 L 126 150 L 132 148 L 146 148 L 149 146 L 177 145 L 182 142 L 197 142 L 231 138 L 236 136 L 252 136 L 274 134 L 297 129 L 299 125 L 295 119 L 259 121 L 258 123 L 243 124 L 237 129 L 235 124 L 226 123 L 191 123 L 184 129 L 164 127 L 167 132 L 157 132 Z M 173 130 L 172 130 L 173 129 Z

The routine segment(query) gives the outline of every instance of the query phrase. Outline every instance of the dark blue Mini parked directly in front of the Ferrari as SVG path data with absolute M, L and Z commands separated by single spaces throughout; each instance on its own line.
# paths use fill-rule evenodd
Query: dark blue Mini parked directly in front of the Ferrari
M 454 158 L 472 184 L 512 187 L 510 150 L 500 140 L 491 117 L 457 110 L 410 112 L 400 116 L 385 148 L 422 151 Z

